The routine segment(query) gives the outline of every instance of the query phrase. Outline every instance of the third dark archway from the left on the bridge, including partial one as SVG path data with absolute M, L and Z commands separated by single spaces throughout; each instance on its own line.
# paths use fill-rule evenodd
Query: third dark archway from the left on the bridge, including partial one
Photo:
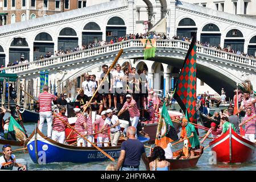
M 39 59 L 40 55 L 46 55 L 51 52 L 54 55 L 54 42 L 52 36 L 46 32 L 42 32 L 35 37 L 34 41 L 34 60 Z

